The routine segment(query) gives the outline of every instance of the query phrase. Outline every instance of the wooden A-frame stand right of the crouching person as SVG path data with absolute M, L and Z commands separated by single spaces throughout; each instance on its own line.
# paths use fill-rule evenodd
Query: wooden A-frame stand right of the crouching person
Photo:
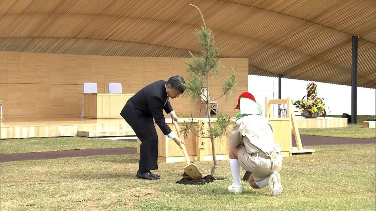
M 314 154 L 314 149 L 303 149 L 302 140 L 300 140 L 300 133 L 299 129 L 296 126 L 296 116 L 293 111 L 293 99 L 287 97 L 287 99 L 268 99 L 265 98 L 265 117 L 269 119 L 280 119 L 280 118 L 273 118 L 273 112 L 271 111 L 271 104 L 287 104 L 287 118 L 290 119 L 291 125 L 293 126 L 294 137 L 296 142 L 296 147 L 291 147 L 290 154 L 299 154 L 299 153 L 308 153 Z

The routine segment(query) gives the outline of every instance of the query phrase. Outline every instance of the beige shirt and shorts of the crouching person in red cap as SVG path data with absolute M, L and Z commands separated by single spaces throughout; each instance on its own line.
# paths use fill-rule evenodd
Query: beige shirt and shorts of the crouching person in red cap
M 249 115 L 238 118 L 230 134 L 230 146 L 235 148 L 244 143 L 239 150 L 238 160 L 244 170 L 253 173 L 255 181 L 266 178 L 270 173 L 279 172 L 282 167 L 280 146 L 274 142 L 273 127 L 270 122 L 260 115 Z M 251 156 L 259 152 L 265 155 L 278 153 L 273 159 Z

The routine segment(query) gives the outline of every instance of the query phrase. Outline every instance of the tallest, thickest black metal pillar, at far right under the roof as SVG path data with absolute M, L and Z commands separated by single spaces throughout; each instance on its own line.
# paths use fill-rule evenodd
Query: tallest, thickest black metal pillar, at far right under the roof
M 351 57 L 351 123 L 356 124 L 356 88 L 358 75 L 358 36 L 352 37 Z

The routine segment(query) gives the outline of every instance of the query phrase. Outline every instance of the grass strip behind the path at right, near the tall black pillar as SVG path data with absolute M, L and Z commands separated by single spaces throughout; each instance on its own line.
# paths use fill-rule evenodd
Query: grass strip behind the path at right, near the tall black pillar
M 341 116 L 328 116 L 328 117 L 341 117 Z M 363 128 L 363 121 L 367 118 L 374 118 L 375 116 L 358 116 L 357 124 L 348 124 L 347 128 L 309 128 L 299 129 L 302 135 L 315 135 L 315 136 L 331 136 L 331 137 L 348 137 L 348 138 L 375 138 L 375 128 Z

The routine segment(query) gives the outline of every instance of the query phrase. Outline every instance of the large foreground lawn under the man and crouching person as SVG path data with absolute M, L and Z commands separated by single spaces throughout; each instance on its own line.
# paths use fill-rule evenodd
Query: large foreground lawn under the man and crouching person
M 307 147 L 311 148 L 311 147 Z M 0 163 L 2 210 L 375 210 L 375 145 L 314 146 L 314 155 L 284 158 L 284 193 L 269 188 L 227 192 L 229 161 L 201 186 L 180 185 L 183 162 L 159 164 L 159 181 L 135 179 L 136 155 Z M 212 162 L 196 162 L 209 173 Z M 242 176 L 244 171 L 242 170 Z

